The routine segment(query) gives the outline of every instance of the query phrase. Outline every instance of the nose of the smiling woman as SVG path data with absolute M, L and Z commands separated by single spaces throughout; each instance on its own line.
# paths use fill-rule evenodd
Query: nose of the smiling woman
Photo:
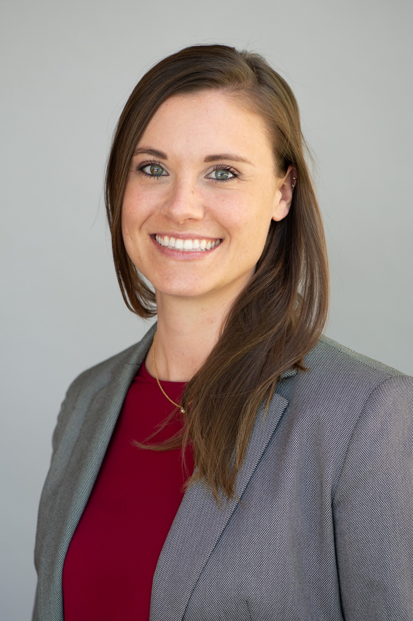
M 161 214 L 176 224 L 185 220 L 202 220 L 204 215 L 202 197 L 198 194 L 195 182 L 190 179 L 176 180 L 162 205 Z

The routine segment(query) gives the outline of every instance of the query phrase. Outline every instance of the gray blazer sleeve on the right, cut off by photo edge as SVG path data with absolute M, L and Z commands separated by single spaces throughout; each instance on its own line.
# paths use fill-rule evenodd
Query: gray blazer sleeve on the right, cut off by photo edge
M 413 621 L 413 378 L 371 392 L 332 501 L 346 621 Z

